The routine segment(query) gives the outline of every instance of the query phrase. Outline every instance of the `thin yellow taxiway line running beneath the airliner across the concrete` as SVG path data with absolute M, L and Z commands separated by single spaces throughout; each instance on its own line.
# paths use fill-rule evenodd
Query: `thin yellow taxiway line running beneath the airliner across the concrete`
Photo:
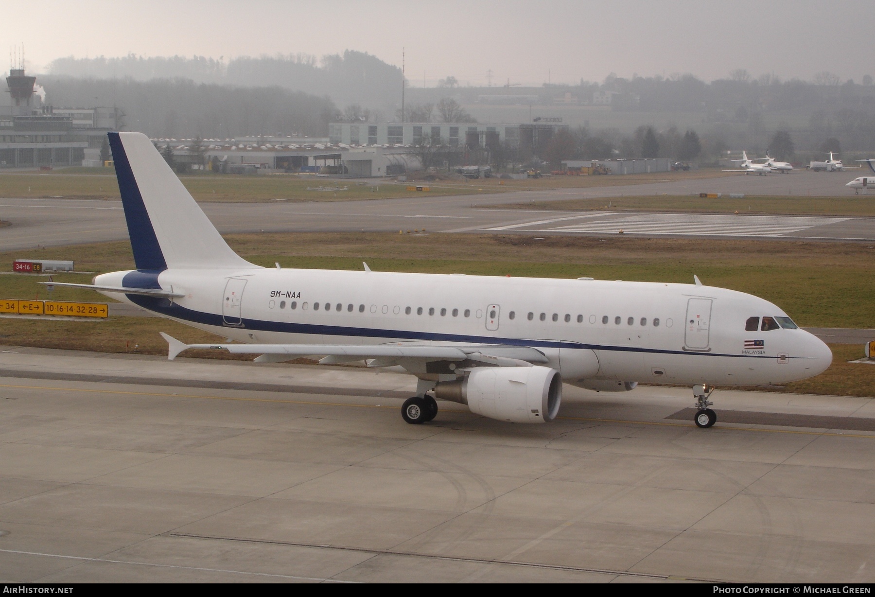
M 168 380 L 168 382 L 172 382 L 173 380 Z M 83 382 L 83 383 L 99 383 L 99 382 Z M 121 383 L 121 382 L 115 382 Z M 172 383 L 167 383 L 167 385 L 172 385 Z M 209 396 L 209 395 L 199 395 L 199 394 L 167 394 L 165 392 L 134 392 L 134 391 L 123 391 L 123 390 L 91 390 L 91 389 L 83 389 L 83 388 L 59 388 L 53 386 L 38 386 L 38 385 L 15 385 L 11 383 L 0 383 L 0 388 L 17 388 L 22 390 L 55 390 L 55 391 L 72 391 L 72 392 L 92 392 L 95 394 L 119 394 L 122 396 L 157 396 L 157 397 L 167 397 L 167 398 L 203 398 L 206 400 L 234 400 L 238 402 L 269 402 L 269 403 L 284 403 L 284 404 L 307 404 L 307 405 L 315 405 L 315 406 L 350 406 L 353 408 L 378 408 L 378 409 L 391 409 L 395 410 L 397 406 L 384 406 L 382 404 L 353 404 L 353 403 L 342 403 L 342 402 L 316 402 L 313 400 L 281 400 L 276 398 L 255 398 L 255 397 L 234 397 L 234 396 Z M 257 391 L 257 390 L 243 390 L 243 391 Z M 366 397 L 367 398 L 367 397 Z M 401 400 L 401 398 L 391 398 L 391 397 L 374 397 L 374 400 Z M 471 414 L 471 411 L 462 411 L 459 409 L 447 409 L 441 408 L 441 411 L 445 412 L 458 412 L 460 414 Z M 667 421 L 629 421 L 623 419 L 613 419 L 613 418 L 588 418 L 588 417 L 556 417 L 556 420 L 563 421 L 589 421 L 593 423 L 620 423 L 622 425 L 658 425 L 662 427 L 686 427 L 691 429 L 693 427 L 693 422 L 690 423 L 669 423 Z M 730 424 L 732 425 L 732 424 Z M 875 439 L 875 433 L 872 435 L 862 435 L 858 433 L 830 433 L 830 432 L 799 432 L 789 429 L 760 429 L 753 427 L 724 427 L 721 425 L 719 429 L 726 431 L 740 431 L 740 432 L 760 432 L 760 433 L 794 433 L 797 435 L 822 435 L 826 437 L 836 437 L 836 438 L 863 438 L 863 439 Z

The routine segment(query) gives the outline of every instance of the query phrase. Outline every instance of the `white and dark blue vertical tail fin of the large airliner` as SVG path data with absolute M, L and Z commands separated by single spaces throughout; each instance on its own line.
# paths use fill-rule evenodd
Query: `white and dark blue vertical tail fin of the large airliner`
M 137 270 L 255 268 L 238 256 L 143 133 L 109 133 Z

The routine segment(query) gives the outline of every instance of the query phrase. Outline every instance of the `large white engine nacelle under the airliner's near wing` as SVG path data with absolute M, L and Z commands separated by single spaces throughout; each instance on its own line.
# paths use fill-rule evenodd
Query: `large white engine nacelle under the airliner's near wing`
M 437 383 L 435 396 L 500 421 L 545 423 L 559 412 L 562 376 L 549 367 L 478 367 L 464 379 Z

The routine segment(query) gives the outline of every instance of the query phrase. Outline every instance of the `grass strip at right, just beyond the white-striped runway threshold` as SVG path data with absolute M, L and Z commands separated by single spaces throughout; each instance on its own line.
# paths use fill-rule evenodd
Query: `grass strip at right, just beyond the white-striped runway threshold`
M 795 214 L 795 215 L 875 215 L 875 197 L 844 195 L 840 197 L 746 196 L 744 199 L 704 199 L 695 195 L 642 195 L 606 199 L 570 199 L 530 201 L 488 207 L 501 209 L 555 209 L 556 211 L 613 212 L 693 212 L 697 214 Z

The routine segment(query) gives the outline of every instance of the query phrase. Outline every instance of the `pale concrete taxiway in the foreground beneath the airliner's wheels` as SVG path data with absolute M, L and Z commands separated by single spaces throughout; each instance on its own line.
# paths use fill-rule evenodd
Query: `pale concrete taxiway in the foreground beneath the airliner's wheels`
M 0 578 L 875 579 L 872 399 L 719 391 L 703 430 L 689 390 L 566 387 L 551 424 L 442 402 L 415 426 L 412 390 L 0 348 Z

